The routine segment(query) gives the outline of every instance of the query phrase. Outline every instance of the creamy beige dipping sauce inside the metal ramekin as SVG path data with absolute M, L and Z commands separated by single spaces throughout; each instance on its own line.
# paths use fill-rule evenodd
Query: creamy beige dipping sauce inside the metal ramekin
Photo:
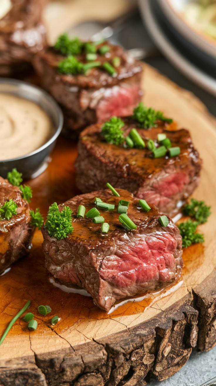
M 52 133 L 52 122 L 39 105 L 0 93 L 0 161 L 37 150 Z

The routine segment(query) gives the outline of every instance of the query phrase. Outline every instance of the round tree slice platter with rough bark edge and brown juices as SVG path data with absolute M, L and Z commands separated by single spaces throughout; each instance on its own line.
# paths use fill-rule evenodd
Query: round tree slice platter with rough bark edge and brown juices
M 193 347 L 216 344 L 216 120 L 194 95 L 144 65 L 144 103 L 179 128 L 188 128 L 203 159 L 194 197 L 211 205 L 212 214 L 199 232 L 205 243 L 183 252 L 184 268 L 176 290 L 126 303 L 111 314 L 91 297 L 55 288 L 44 268 L 42 234 L 35 232 L 28 257 L 0 277 L 0 335 L 27 300 L 38 327 L 29 332 L 17 320 L 0 346 L 0 386 L 132 386 L 151 377 L 165 379 L 188 360 Z M 31 206 L 44 217 L 54 201 L 64 202 L 75 187 L 75 142 L 59 137 L 48 168 L 28 181 Z M 46 317 L 39 305 L 50 305 Z M 52 326 L 50 319 L 60 320 Z

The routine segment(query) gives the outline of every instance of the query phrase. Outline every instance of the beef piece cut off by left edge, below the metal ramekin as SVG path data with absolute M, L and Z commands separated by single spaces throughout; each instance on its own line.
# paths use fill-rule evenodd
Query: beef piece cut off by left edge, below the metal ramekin
M 0 177 L 0 205 L 12 199 L 18 205 L 10 220 L 0 220 L 0 274 L 13 262 L 28 254 L 35 227 L 30 226 L 29 205 L 18 186 Z

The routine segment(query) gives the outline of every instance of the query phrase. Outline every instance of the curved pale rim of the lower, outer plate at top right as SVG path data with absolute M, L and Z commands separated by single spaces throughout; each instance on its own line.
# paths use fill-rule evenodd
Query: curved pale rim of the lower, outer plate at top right
M 151 0 L 139 0 L 139 7 L 149 34 L 166 58 L 189 79 L 216 96 L 216 79 L 201 71 L 184 58 L 166 37 L 151 11 Z

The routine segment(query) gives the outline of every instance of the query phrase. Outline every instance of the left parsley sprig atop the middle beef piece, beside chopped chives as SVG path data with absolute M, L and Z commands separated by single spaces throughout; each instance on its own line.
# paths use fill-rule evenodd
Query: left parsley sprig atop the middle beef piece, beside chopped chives
M 112 117 L 105 122 L 101 128 L 101 134 L 105 141 L 114 145 L 121 145 L 124 142 L 123 131 L 121 130 L 123 126 L 124 122 L 117 117 Z

